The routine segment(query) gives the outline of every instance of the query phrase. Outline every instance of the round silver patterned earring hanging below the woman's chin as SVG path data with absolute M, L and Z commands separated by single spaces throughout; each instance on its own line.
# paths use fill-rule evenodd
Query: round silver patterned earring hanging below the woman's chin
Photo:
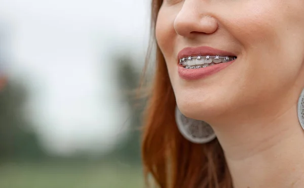
M 175 108 L 175 120 L 180 133 L 192 143 L 205 144 L 216 137 L 208 123 L 184 116 L 177 106 Z

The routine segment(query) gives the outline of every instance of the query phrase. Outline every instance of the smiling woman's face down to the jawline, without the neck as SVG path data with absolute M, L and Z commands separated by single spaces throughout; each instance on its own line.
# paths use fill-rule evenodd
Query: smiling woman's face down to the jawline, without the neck
M 164 0 L 156 37 L 181 112 L 212 122 L 258 114 L 299 92 L 303 12 L 302 0 Z

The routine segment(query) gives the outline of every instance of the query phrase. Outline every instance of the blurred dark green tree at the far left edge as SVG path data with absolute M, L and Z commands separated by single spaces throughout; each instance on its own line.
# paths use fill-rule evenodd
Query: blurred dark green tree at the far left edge
M 23 107 L 27 92 L 23 84 L 8 80 L 0 91 L 0 160 L 37 160 L 45 156 Z

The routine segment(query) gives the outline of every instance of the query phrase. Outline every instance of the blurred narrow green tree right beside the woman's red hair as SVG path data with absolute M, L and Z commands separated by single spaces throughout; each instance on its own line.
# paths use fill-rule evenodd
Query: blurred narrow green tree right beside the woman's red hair
M 121 89 L 123 101 L 127 103 L 130 118 L 130 130 L 125 140 L 118 144 L 110 156 L 117 160 L 129 163 L 140 164 L 140 126 L 141 116 L 144 107 L 144 99 L 138 99 L 136 89 L 139 86 L 140 70 L 136 68 L 132 59 L 127 55 L 117 57 L 115 62 L 118 70 L 118 84 Z M 124 124 L 124 126 L 127 126 Z

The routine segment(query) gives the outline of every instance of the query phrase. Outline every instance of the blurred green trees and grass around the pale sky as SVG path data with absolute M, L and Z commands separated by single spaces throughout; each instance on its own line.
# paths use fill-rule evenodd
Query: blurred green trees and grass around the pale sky
M 26 117 L 26 84 L 8 80 L 0 91 L 1 188 L 143 187 L 139 127 L 144 100 L 136 99 L 133 92 L 140 72 L 126 56 L 119 56 L 115 64 L 122 103 L 130 114 L 122 126 L 130 125 L 129 132 L 111 153 L 94 159 L 86 154 L 59 157 L 46 153 Z

